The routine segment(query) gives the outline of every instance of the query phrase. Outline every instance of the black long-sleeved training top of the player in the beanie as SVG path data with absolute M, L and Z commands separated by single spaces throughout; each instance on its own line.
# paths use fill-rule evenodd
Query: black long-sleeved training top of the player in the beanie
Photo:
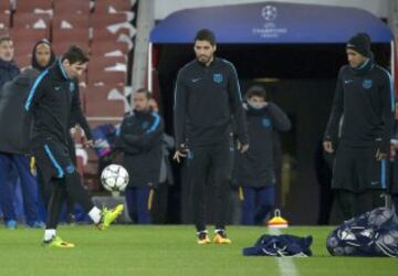
M 344 65 L 337 77 L 335 97 L 324 140 L 339 145 L 375 147 L 389 151 L 394 127 L 394 84 L 390 74 L 368 60 L 360 68 Z

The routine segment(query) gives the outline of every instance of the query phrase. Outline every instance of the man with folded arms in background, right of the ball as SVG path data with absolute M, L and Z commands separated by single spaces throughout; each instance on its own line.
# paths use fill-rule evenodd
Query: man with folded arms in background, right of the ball
M 138 224 L 150 224 L 154 189 L 159 183 L 164 123 L 149 109 L 150 93 L 134 94 L 134 113 L 122 123 L 118 134 L 124 152 L 123 164 L 128 171 L 126 189 L 128 214 Z

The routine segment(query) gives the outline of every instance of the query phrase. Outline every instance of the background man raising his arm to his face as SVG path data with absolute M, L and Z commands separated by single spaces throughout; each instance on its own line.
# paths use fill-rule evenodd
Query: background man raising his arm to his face
M 262 224 L 275 204 L 273 132 L 287 131 L 291 121 L 274 103 L 265 102 L 265 89 L 252 86 L 245 94 L 250 149 L 237 155 L 235 173 L 241 189 L 241 223 Z

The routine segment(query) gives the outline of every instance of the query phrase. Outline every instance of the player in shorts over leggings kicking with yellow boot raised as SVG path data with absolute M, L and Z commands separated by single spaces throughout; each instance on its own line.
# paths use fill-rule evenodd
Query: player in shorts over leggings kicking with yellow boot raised
M 28 95 L 24 109 L 33 115 L 32 150 L 44 187 L 51 182 L 44 245 L 74 247 L 56 236 L 59 214 L 64 194 L 81 204 L 100 229 L 105 229 L 123 211 L 123 205 L 103 212 L 94 206 L 73 164 L 67 137 L 73 116 L 80 113 L 76 78 L 86 68 L 88 57 L 76 46 L 71 46 L 53 66 L 42 72 Z

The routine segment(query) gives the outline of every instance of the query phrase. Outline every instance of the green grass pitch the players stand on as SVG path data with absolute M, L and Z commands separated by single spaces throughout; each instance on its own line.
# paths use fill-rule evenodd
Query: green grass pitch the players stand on
M 210 229 L 209 229 L 210 230 Z M 331 257 L 325 238 L 332 227 L 290 227 L 283 233 L 313 235 L 313 257 L 290 258 L 284 275 L 398 275 L 397 258 Z M 230 226 L 232 245 L 197 245 L 193 226 L 61 226 L 60 236 L 75 248 L 43 248 L 42 230 L 0 226 L 0 276 L 23 275 L 283 275 L 274 257 L 243 257 L 266 227 Z

